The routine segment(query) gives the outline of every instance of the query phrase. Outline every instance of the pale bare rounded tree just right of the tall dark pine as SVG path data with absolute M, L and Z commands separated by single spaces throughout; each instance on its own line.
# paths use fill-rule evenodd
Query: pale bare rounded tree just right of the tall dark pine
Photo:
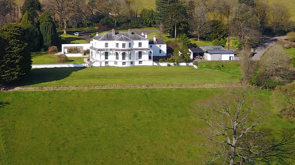
M 211 31 L 210 23 L 208 22 L 207 11 L 204 6 L 199 6 L 193 12 L 193 18 L 189 21 L 191 31 L 193 34 L 198 36 L 198 41 L 200 37 Z

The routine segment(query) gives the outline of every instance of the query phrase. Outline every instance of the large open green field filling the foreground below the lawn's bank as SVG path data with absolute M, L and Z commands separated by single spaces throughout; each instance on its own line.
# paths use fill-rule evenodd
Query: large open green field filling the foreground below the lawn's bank
M 226 89 L 225 89 L 226 90 Z M 193 115 L 198 100 L 223 88 L 63 90 L 0 93 L 4 135 L 13 164 L 202 164 Z M 272 110 L 270 92 L 262 130 L 280 137 L 294 124 Z M 208 153 L 207 153 L 208 154 Z M 12 163 L 11 163 L 12 164 Z

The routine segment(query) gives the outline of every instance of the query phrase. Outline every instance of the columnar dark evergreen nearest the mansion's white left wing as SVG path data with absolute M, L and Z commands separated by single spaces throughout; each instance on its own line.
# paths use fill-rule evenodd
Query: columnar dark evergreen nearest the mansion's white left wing
M 57 32 L 55 24 L 48 12 L 45 12 L 40 16 L 39 22 L 43 48 L 48 49 L 48 47 L 53 46 L 56 42 Z

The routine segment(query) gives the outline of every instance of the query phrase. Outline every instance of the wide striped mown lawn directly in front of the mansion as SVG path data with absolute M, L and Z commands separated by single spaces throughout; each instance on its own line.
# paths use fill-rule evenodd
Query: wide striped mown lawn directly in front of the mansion
M 18 85 L 196 84 L 239 82 L 239 75 L 183 67 L 92 67 L 33 69 Z

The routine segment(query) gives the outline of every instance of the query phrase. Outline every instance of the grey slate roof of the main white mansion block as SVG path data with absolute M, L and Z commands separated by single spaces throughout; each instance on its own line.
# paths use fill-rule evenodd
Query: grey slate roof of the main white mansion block
M 129 34 L 127 33 L 116 33 L 113 35 L 113 33 L 105 33 L 96 37 L 93 37 L 93 39 L 98 41 L 129 41 L 129 40 L 147 40 L 147 38 L 142 37 L 136 33 Z

